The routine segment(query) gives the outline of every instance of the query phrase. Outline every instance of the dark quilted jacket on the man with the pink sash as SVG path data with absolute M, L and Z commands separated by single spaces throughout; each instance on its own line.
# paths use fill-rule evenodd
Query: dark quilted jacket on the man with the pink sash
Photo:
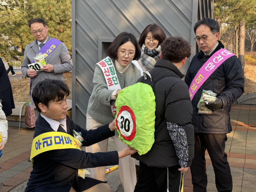
M 217 50 L 224 48 L 224 45 L 218 41 Z M 197 71 L 209 59 L 211 55 L 204 55 L 202 51 L 196 54 L 190 62 L 185 82 L 188 87 L 194 79 Z M 211 90 L 220 97 L 223 102 L 223 107 L 214 111 L 212 114 L 198 114 L 197 103 L 200 100 L 202 90 Z M 204 82 L 200 89 L 196 92 L 193 100 L 193 119 L 192 123 L 196 133 L 221 134 L 229 133 L 230 124 L 230 108 L 231 105 L 239 98 L 244 91 L 244 75 L 240 61 L 236 56 L 231 56 L 224 61 Z

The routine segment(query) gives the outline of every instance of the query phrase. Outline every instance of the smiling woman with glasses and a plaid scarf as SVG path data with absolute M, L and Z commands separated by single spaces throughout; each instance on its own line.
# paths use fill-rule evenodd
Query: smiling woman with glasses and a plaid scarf
M 160 26 L 154 24 L 148 25 L 141 33 L 139 44 L 141 46 L 141 58 L 138 61 L 142 70 L 151 71 L 161 52 L 161 43 L 166 35 Z

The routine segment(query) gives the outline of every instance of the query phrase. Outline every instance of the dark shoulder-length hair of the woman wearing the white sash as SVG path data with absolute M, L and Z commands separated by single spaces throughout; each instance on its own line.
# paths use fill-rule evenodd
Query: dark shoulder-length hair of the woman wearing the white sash
M 141 55 L 139 43 L 132 33 L 127 32 L 122 32 L 116 36 L 114 41 L 108 47 L 108 56 L 112 59 L 117 59 L 117 49 L 127 41 L 132 42 L 135 47 L 135 55 L 133 60 L 139 60 Z

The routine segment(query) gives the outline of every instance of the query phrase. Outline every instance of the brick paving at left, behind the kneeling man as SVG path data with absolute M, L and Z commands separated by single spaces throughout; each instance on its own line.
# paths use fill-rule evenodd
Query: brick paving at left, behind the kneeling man
M 32 171 L 30 156 L 34 130 L 9 127 L 8 140 L 0 158 L 1 192 L 11 190 L 14 186 L 28 180 Z

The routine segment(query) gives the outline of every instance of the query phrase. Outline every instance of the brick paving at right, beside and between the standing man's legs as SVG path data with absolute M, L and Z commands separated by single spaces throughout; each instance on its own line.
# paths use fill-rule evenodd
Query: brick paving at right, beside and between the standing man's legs
M 256 99 L 243 103 L 233 105 L 231 108 L 230 119 L 233 131 L 227 134 L 225 148 L 233 178 L 233 192 L 256 191 Z M 207 192 L 217 191 L 209 155 L 206 155 L 206 160 Z M 184 192 L 192 191 L 189 170 L 184 176 Z

